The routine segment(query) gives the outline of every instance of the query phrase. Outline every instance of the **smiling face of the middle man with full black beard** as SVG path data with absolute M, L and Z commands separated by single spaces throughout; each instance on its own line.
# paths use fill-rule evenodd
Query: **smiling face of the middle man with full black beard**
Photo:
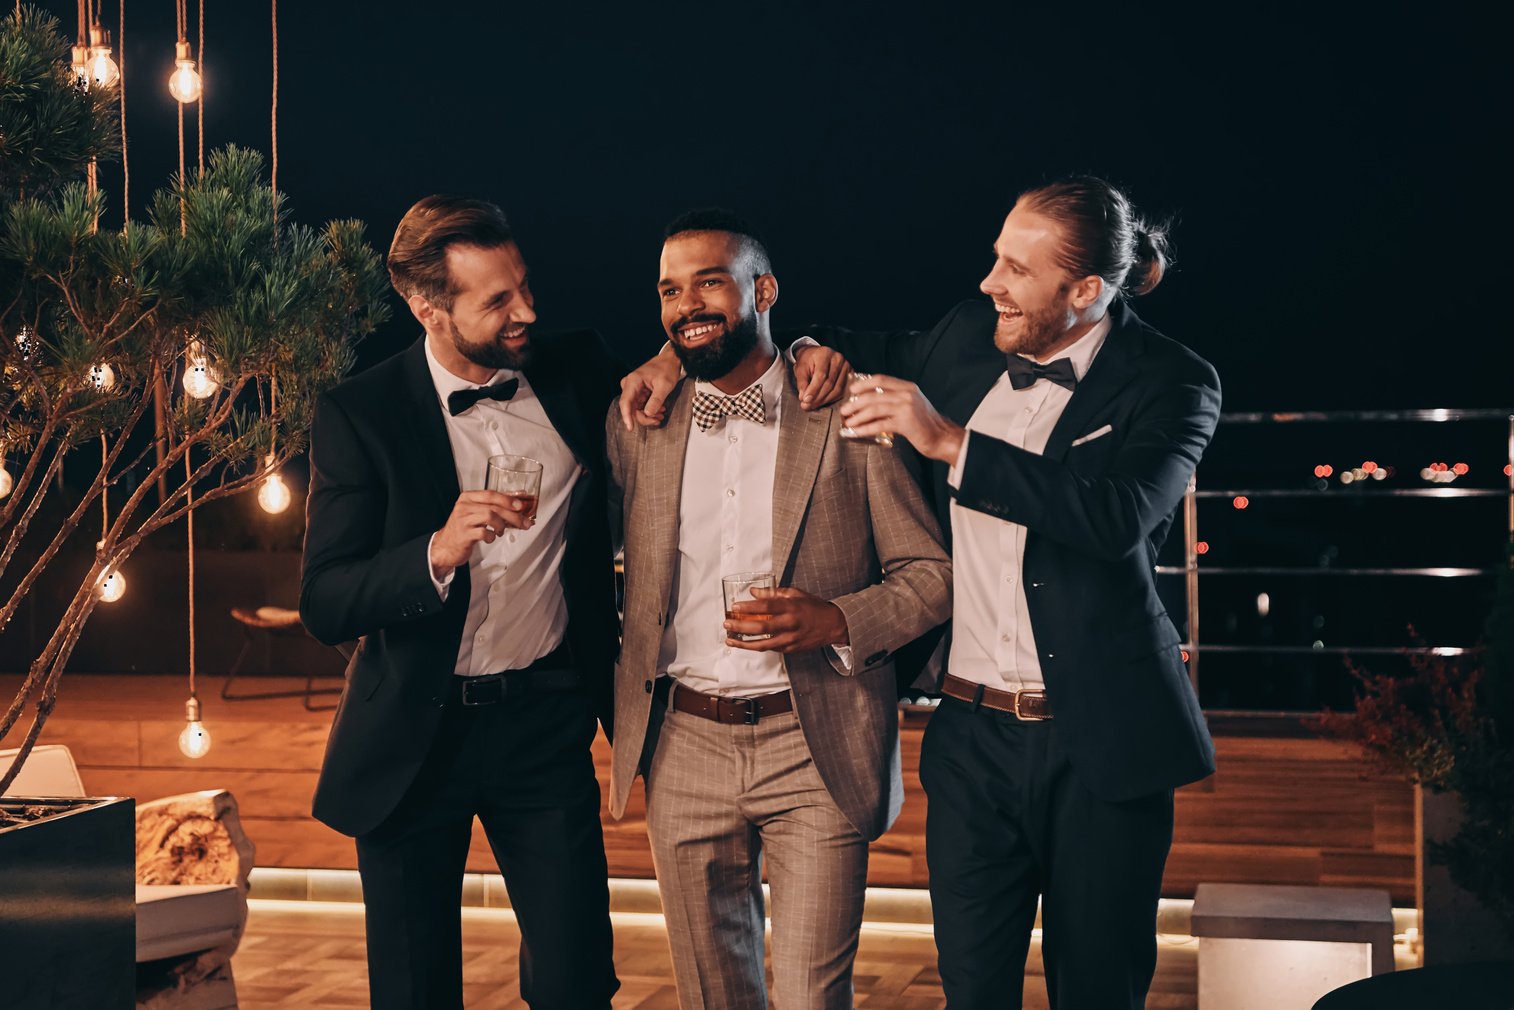
M 766 360 L 766 313 L 778 282 L 755 271 L 742 236 L 730 232 L 680 232 L 663 244 L 657 280 L 663 330 L 695 379 L 715 382 Z

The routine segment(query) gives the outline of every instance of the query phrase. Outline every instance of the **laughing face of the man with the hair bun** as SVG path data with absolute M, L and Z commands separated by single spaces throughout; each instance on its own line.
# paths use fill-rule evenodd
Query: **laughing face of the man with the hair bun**
M 993 244 L 993 270 L 978 285 L 999 312 L 993 344 L 1007 354 L 1045 359 L 1070 345 L 1098 323 L 1098 277 L 1072 277 L 1057 265 L 1061 244 L 1051 218 L 1019 204 L 1004 220 Z

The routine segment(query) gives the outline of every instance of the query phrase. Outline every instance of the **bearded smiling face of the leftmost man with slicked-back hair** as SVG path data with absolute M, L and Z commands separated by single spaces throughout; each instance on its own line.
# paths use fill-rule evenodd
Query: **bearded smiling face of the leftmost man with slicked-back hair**
M 536 310 L 519 247 L 515 242 L 495 248 L 453 245 L 447 250 L 447 274 L 451 309 L 427 303 L 431 321 L 416 312 L 427 332 L 436 329 L 447 338 L 433 344 L 438 357 L 442 359 L 438 345 L 450 345 L 460 359 L 491 373 L 530 363 Z

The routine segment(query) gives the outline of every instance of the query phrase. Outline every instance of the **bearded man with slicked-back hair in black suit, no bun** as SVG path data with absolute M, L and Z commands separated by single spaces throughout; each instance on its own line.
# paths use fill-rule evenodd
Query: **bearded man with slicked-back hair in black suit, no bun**
M 494 204 L 427 197 L 389 276 L 425 336 L 316 404 L 300 615 L 359 639 L 315 792 L 357 840 L 375 1008 L 462 1007 L 474 816 L 521 927 L 534 1008 L 610 1005 L 609 889 L 589 747 L 610 731 L 616 615 L 592 332 L 536 333 Z M 483 491 L 542 462 L 536 501 Z

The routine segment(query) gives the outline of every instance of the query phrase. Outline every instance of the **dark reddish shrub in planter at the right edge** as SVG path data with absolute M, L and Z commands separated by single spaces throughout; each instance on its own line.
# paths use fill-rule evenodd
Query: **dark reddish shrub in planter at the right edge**
M 1417 786 L 1425 963 L 1514 960 L 1514 545 L 1479 650 L 1354 672 L 1355 712 L 1317 725 Z

